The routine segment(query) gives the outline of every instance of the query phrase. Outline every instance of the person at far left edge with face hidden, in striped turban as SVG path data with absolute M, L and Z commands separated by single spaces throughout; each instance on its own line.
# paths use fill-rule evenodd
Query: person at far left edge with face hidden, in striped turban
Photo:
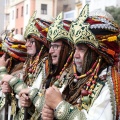
M 23 63 L 26 58 L 25 40 L 23 36 L 20 34 L 13 35 L 13 30 L 9 33 L 5 32 L 2 34 L 1 45 L 2 45 L 1 46 L 2 50 L 6 54 L 4 54 L 0 58 L 0 76 L 3 76 L 6 73 L 18 76 L 18 73 L 21 71 Z M 3 93 L 10 93 L 12 91 L 7 82 L 3 82 L 1 88 L 2 90 L 0 91 L 0 113 L 1 113 L 0 118 L 1 120 L 4 120 L 5 119 L 4 112 L 8 112 L 8 111 L 4 111 L 6 105 L 5 105 L 5 94 Z M 11 101 L 14 98 L 13 93 L 8 94 L 7 96 L 9 98 L 11 96 Z M 9 107 L 9 111 L 10 111 L 10 107 Z

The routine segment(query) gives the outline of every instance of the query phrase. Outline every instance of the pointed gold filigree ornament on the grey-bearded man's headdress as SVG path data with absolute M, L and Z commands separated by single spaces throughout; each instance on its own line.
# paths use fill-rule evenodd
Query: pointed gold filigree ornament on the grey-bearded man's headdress
M 85 23 L 85 20 L 89 15 L 89 5 L 86 5 L 81 11 L 79 17 L 76 21 L 72 22 L 70 27 L 70 40 L 74 44 L 78 43 L 89 43 L 98 48 L 98 41 L 96 41 L 95 36 L 89 30 L 89 23 Z

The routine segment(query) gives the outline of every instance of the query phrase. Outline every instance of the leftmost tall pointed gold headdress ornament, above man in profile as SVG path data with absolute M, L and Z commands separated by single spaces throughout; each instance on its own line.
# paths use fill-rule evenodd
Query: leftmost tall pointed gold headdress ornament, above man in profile
M 40 36 L 38 29 L 35 27 L 35 16 L 36 16 L 36 11 L 29 19 L 28 25 L 26 26 L 25 29 L 24 38 L 27 38 L 27 36 L 30 34 L 37 35 L 38 37 Z

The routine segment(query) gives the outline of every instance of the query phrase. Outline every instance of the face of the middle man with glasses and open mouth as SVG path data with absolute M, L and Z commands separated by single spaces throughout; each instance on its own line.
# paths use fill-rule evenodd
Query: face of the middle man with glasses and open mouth
M 56 41 L 50 44 L 49 53 L 51 54 L 53 65 L 58 65 L 61 48 L 62 41 Z

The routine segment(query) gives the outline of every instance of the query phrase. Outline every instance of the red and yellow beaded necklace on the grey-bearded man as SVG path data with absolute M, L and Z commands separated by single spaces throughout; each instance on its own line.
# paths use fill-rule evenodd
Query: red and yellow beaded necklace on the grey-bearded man
M 89 104 L 90 103 L 90 95 L 93 92 L 93 89 L 96 85 L 96 79 L 98 78 L 98 71 L 100 68 L 100 62 L 101 62 L 101 56 L 96 60 L 96 62 L 93 64 L 92 68 L 86 72 L 83 75 L 78 76 L 76 73 L 76 66 L 75 63 L 73 62 L 73 72 L 74 72 L 74 83 L 81 82 L 80 80 L 82 78 L 85 78 L 86 76 L 90 76 L 89 79 L 86 81 L 86 83 L 83 83 L 82 88 L 81 88 L 81 100 L 82 102 Z M 85 82 L 85 81 L 84 81 Z M 78 84 L 78 83 L 77 83 Z M 80 87 L 80 86 L 79 86 Z M 77 89 L 77 88 L 76 88 Z M 78 100 L 78 103 L 80 100 Z

